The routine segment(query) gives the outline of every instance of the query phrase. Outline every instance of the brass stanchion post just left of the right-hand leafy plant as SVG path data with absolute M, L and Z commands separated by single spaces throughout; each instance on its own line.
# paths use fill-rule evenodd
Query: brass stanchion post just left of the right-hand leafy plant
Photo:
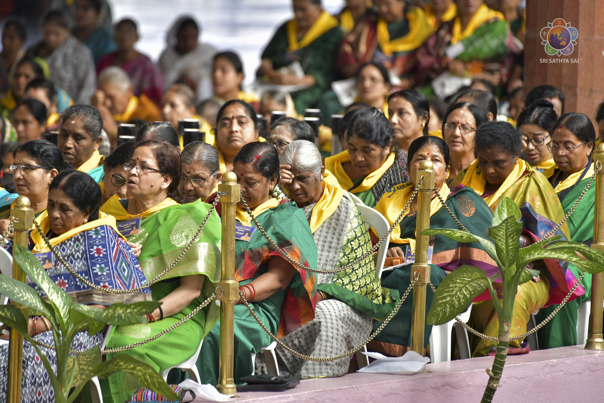
M 430 265 L 428 264 L 429 236 L 420 235 L 423 230 L 430 228 L 430 202 L 434 189 L 434 165 L 432 161 L 419 163 L 416 178 L 423 182 L 417 192 L 417 225 L 415 264 L 411 266 L 411 281 L 416 272 L 419 279 L 413 286 L 413 311 L 411 311 L 411 350 L 423 355 L 423 337 L 426 323 L 426 286 L 430 281 Z

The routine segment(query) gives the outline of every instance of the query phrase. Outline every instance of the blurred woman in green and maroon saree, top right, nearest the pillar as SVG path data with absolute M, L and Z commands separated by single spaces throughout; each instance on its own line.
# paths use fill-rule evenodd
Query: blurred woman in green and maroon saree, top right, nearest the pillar
M 445 71 L 455 76 L 470 74 L 504 85 L 514 56 L 522 44 L 512 40 L 503 14 L 482 1 L 455 1 L 457 16 L 443 22 L 417 50 L 417 85 L 429 87 Z M 460 44 L 460 45 L 457 45 Z M 432 91 L 432 88 L 426 88 Z

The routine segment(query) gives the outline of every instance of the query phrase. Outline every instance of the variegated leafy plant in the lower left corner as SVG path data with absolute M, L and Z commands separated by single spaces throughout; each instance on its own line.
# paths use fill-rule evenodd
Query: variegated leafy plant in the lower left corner
M 71 343 L 80 330 L 88 328 L 88 334 L 95 335 L 109 323 L 114 326 L 147 323 L 145 315 L 155 311 L 161 303 L 152 301 L 117 303 L 106 309 L 76 303 L 51 280 L 42 268 L 42 264 L 27 248 L 16 245 L 14 259 L 30 280 L 48 296 L 48 301 L 43 300 L 36 290 L 25 283 L 0 274 L 0 294 L 27 307 L 18 309 L 14 305 L 1 305 L 0 321 L 23 335 L 25 340 L 36 349 L 48 372 L 57 403 L 73 402 L 94 376 L 107 378 L 112 373 L 120 371 L 129 373 L 141 385 L 165 398 L 177 401 L 180 399 L 151 366 L 132 356 L 120 354 L 109 361 L 101 362 L 101 350 L 98 346 L 76 356 L 69 356 Z M 56 373 L 48 358 L 29 335 L 27 330 L 29 315 L 43 315 L 48 318 L 53 327 L 54 347 L 57 353 Z

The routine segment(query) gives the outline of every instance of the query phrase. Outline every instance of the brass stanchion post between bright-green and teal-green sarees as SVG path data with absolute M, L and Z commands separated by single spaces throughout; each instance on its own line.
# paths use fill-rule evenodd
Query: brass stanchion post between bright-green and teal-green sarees
M 240 201 L 241 187 L 234 172 L 225 172 L 218 191 L 222 203 L 222 266 L 220 282 L 216 283 L 220 300 L 220 372 L 216 388 L 224 395 L 234 395 L 233 334 L 235 302 L 239 300 L 239 283 L 235 281 L 235 207 Z

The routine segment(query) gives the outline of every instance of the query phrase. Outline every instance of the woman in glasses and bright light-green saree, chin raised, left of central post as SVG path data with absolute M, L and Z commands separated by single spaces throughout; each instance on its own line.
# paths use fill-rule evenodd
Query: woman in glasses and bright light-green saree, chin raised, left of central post
M 179 205 L 172 199 L 178 187 L 181 159 L 178 149 L 170 144 L 143 141 L 134 150 L 130 163 L 124 164 L 124 169 L 128 172 L 127 193 L 132 198 L 120 200 L 114 195 L 101 211 L 117 219 L 120 232 L 130 242 L 140 243 L 138 260 L 150 282 L 191 243 L 210 205 L 201 200 Z M 213 283 L 219 279 L 219 268 L 220 219 L 212 213 L 188 253 L 162 281 L 151 285 L 153 300 L 163 305 L 149 315 L 150 323 L 114 327 L 107 348 L 135 343 L 141 335 L 157 335 L 190 314 L 214 292 Z M 211 303 L 178 329 L 123 353 L 162 372 L 190 358 L 218 318 L 219 307 Z M 108 355 L 107 359 L 112 356 Z M 119 372 L 101 381 L 106 401 L 130 399 L 138 385 L 126 379 L 126 374 Z

